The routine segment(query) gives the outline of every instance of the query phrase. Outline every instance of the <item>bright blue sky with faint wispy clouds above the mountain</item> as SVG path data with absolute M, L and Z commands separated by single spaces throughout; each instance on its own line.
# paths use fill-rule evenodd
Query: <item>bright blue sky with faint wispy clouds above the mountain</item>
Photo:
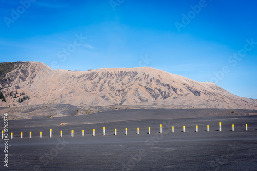
M 149 66 L 257 99 L 256 1 L 0 0 L 0 62 Z

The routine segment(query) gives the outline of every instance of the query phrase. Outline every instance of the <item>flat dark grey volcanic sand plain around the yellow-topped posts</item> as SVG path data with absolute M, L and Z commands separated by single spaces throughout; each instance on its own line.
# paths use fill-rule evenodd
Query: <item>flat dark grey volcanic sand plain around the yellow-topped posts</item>
M 12 120 L 8 129 L 14 138 L 9 138 L 8 167 L 4 166 L 1 140 L 0 170 L 257 170 L 257 116 L 249 113 L 256 110 L 232 114 L 221 109 L 141 109 Z M 182 132 L 184 125 L 186 132 Z M 3 130 L 3 121 L 0 126 Z

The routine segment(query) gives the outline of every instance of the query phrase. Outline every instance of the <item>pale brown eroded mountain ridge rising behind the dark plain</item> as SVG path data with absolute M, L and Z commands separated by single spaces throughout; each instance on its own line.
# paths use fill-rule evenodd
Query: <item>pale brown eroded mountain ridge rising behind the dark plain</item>
M 0 63 L 0 91 L 6 99 L 0 107 L 62 103 L 257 109 L 255 99 L 150 67 L 68 71 L 41 62 Z

